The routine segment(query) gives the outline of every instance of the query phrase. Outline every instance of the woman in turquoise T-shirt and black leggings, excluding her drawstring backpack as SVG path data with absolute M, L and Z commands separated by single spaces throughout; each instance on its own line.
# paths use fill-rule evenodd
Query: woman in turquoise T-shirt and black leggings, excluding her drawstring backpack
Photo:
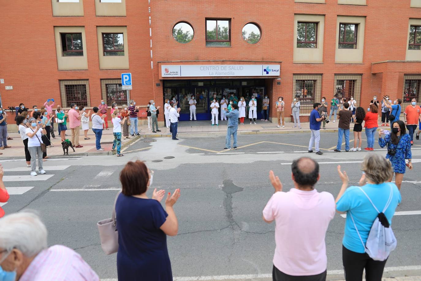
M 342 240 L 342 262 L 346 281 L 361 281 L 364 269 L 367 281 L 380 281 L 387 259 L 384 261 L 373 260 L 365 253 L 368 233 L 378 215 L 373 204 L 378 210 L 383 211 L 387 206 L 389 196 L 392 196 L 389 206 L 384 211 L 389 225 L 392 225 L 392 217 L 401 201 L 401 196 L 397 186 L 388 182 L 392 178 L 393 169 L 390 161 L 383 156 L 378 154 L 365 156 L 361 170 L 363 174 L 360 179 L 360 187 L 348 187 L 349 178 L 345 171 L 341 171 L 341 166 L 338 166 L 342 187 L 336 198 L 336 211 L 340 214 L 347 214 L 345 234 Z M 352 218 L 357 229 L 355 229 Z

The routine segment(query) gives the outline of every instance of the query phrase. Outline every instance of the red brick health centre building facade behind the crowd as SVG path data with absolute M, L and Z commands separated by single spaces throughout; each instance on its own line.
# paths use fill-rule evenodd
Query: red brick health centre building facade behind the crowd
M 259 112 L 268 95 L 271 118 L 279 96 L 288 117 L 296 98 L 303 120 L 314 102 L 335 94 L 364 108 L 374 95 L 400 98 L 402 107 L 421 102 L 421 0 L 2 0 L 1 7 L 3 107 L 49 98 L 63 107 L 127 103 L 124 72 L 133 76 L 131 99 L 162 106 L 175 97 L 181 120 L 189 119 L 192 95 L 202 120 L 210 119 L 213 95 L 255 95 Z

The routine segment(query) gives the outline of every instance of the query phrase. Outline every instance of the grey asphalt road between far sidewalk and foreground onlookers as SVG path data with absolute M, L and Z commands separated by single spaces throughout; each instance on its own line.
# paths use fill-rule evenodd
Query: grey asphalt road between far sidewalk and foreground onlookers
M 155 171 L 154 187 L 171 192 L 181 188 L 175 206 L 179 234 L 168 237 L 174 277 L 226 275 L 229 279 L 245 274 L 256 275 L 253 280 L 269 280 L 263 277 L 272 272 L 274 224 L 261 219 L 261 211 L 273 193 L 269 170 L 279 175 L 284 190 L 289 190 L 293 187 L 289 163 L 300 156 L 311 156 L 320 162 L 317 190 L 336 197 L 341 187 L 338 163 L 351 182 L 357 183 L 364 155 L 386 154 L 384 150 L 334 153 L 329 149 L 336 145 L 337 135 L 325 133 L 320 144 L 325 154 L 319 156 L 306 152 L 308 140 L 307 134 L 239 136 L 238 150 L 221 152 L 224 137 L 141 139 L 121 158 L 89 156 L 47 161 L 44 168 L 52 176 L 37 181 L 30 179 L 42 178 L 20 178 L 29 175 L 24 161 L 0 161 L 6 169 L 19 170 L 5 172 L 6 187 L 32 187 L 23 194 L 11 195 L 3 208 L 6 213 L 24 208 L 39 211 L 48 227 L 50 245 L 75 249 L 101 278 L 117 278 L 116 255 L 102 252 L 96 222 L 111 217 L 123 165 L 139 159 Z M 376 144 L 375 148 L 380 147 Z M 413 148 L 414 169 L 405 174 L 403 200 L 397 211 L 421 210 L 421 142 Z M 344 222 L 336 215 L 326 235 L 330 279 L 343 278 Z M 396 216 L 392 227 L 398 247 L 386 264 L 393 268 L 385 276 L 421 275 L 421 214 Z

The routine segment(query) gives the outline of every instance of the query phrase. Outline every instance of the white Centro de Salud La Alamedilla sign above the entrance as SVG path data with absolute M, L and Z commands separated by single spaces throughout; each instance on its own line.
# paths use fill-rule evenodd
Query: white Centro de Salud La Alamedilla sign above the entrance
M 161 77 L 280 76 L 280 64 L 163 65 Z

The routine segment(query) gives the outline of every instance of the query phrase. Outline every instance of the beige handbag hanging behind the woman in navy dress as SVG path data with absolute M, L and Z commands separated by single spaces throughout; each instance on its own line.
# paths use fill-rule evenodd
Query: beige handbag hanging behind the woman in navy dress
M 117 253 L 118 250 L 118 231 L 117 217 L 115 214 L 115 203 L 117 203 L 117 198 L 120 193 L 121 191 L 119 191 L 115 197 L 112 217 L 109 219 L 103 219 L 96 224 L 98 225 L 101 247 L 105 254 L 114 254 Z

